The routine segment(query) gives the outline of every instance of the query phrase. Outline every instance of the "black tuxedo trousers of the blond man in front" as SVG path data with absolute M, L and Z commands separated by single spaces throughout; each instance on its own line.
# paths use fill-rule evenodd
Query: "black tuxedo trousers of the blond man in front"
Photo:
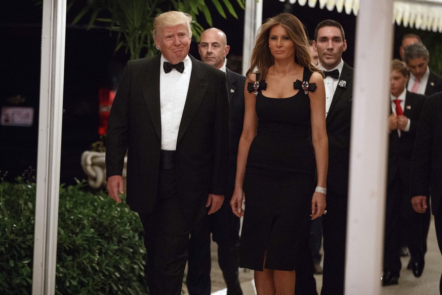
M 151 214 L 139 213 L 150 295 L 181 294 L 190 227 L 181 211 L 176 182 L 175 169 L 161 169 L 155 209 Z

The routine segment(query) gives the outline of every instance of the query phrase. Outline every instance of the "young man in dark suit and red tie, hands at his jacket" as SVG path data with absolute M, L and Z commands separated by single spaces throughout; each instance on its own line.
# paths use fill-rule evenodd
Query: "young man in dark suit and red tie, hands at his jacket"
M 395 59 L 391 63 L 388 118 L 389 148 L 387 198 L 385 209 L 384 274 L 382 285 L 397 284 L 400 263 L 401 222 L 405 223 L 406 244 L 411 253 L 413 274 L 420 277 L 423 253 L 420 242 L 420 216 L 410 206 L 411 157 L 425 96 L 407 91 L 407 65 Z

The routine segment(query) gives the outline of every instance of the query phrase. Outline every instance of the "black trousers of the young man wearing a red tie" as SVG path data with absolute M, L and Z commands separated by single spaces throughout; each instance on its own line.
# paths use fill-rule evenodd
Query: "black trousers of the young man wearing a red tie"
M 387 186 L 385 206 L 384 272 L 390 271 L 399 276 L 400 263 L 400 221 L 405 223 L 406 244 L 410 254 L 423 255 L 423 236 L 421 230 L 425 215 L 413 210 L 410 199 L 410 183 L 396 173 Z M 425 238 L 426 240 L 426 238 Z

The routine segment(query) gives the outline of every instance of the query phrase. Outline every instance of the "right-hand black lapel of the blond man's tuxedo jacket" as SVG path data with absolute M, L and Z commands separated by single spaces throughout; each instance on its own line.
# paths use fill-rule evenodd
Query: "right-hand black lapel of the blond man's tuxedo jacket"
M 205 89 L 207 89 L 209 84 L 208 80 L 204 78 L 205 71 L 200 67 L 196 59 L 191 55 L 189 55 L 189 57 L 192 61 L 192 72 L 190 73 L 189 89 L 187 90 L 186 103 L 184 104 L 177 142 L 183 137 L 192 118 L 195 116 L 206 93 Z

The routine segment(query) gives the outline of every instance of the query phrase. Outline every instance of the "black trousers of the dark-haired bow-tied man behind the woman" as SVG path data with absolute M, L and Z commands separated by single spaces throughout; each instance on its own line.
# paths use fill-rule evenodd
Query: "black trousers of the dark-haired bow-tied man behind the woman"
M 347 194 L 327 190 L 327 214 L 322 216 L 324 268 L 321 295 L 344 293 L 347 198 Z

